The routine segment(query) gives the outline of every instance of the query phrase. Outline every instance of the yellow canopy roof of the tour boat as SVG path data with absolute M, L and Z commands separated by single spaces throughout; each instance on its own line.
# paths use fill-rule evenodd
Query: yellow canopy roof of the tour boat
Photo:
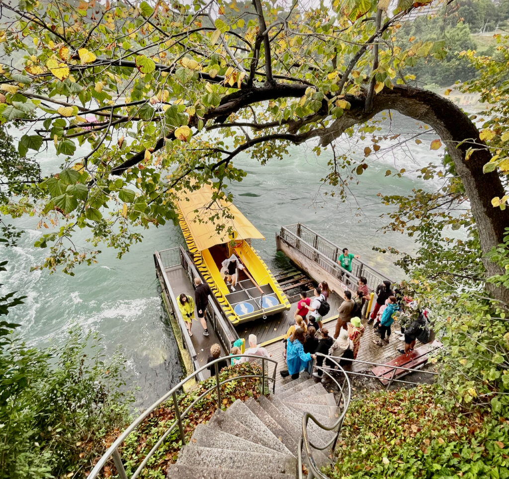
M 210 185 L 202 185 L 201 188 L 193 191 L 184 189 L 177 193 L 177 205 L 184 216 L 194 244 L 200 251 L 216 244 L 226 243 L 231 239 L 265 239 L 233 203 L 216 200 L 211 205 L 212 192 Z M 222 216 L 222 211 L 225 209 L 229 210 L 233 218 Z M 212 222 L 209 218 L 213 215 L 219 217 Z M 220 232 L 217 231 L 218 225 L 224 226 Z M 236 232 L 235 238 L 232 238 L 229 230 Z

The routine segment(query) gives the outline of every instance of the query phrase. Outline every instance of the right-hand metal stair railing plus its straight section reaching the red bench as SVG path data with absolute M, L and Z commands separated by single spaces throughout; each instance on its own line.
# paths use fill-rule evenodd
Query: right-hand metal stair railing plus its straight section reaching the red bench
M 317 466 L 315 460 L 313 459 L 313 449 L 317 450 L 324 450 L 327 448 L 331 448 L 334 450 L 337 442 L 337 438 L 340 435 L 341 428 L 343 426 L 343 421 L 345 419 L 345 414 L 348 409 L 348 406 L 350 404 L 350 398 L 351 398 L 351 383 L 349 375 L 354 376 L 364 376 L 364 377 L 372 377 L 375 379 L 378 379 L 377 376 L 368 375 L 365 373 L 360 372 L 354 372 L 350 370 L 345 370 L 341 367 L 341 365 L 337 361 L 342 361 L 343 358 L 337 358 L 333 356 L 328 356 L 322 353 L 316 353 L 317 356 L 322 356 L 324 358 L 322 365 L 319 366 L 316 362 L 316 359 L 313 362 L 313 371 L 321 371 L 323 378 L 328 378 L 330 381 L 335 383 L 338 389 L 339 399 L 337 401 L 337 407 L 338 407 L 338 418 L 332 425 L 324 425 L 322 424 L 318 419 L 316 419 L 312 413 L 310 412 L 304 412 L 302 415 L 302 432 L 301 432 L 301 438 L 299 440 L 299 448 L 298 448 L 298 462 L 297 462 L 297 477 L 299 479 L 303 479 L 302 475 L 302 450 L 304 450 L 304 454 L 307 459 L 307 479 L 314 479 L 315 477 L 318 477 L 319 479 L 329 479 L 328 476 L 323 474 L 320 471 L 320 468 Z M 360 359 L 348 359 L 350 363 L 359 363 L 359 364 L 369 364 L 370 366 L 384 366 L 387 367 L 387 364 L 381 364 L 378 362 L 372 362 L 372 361 L 363 361 Z M 351 364 L 349 365 L 351 367 Z M 337 369 L 335 369 L 337 368 Z M 402 368 L 400 366 L 394 366 L 392 371 L 392 376 L 389 379 L 389 382 L 387 384 L 387 390 L 391 386 L 392 383 L 398 382 L 403 384 L 411 384 L 411 385 L 417 385 L 417 382 L 414 381 L 404 381 L 402 379 L 395 379 L 394 375 L 396 371 L 407 371 L 408 373 L 415 373 L 418 372 L 420 374 L 428 374 L 432 376 L 438 375 L 438 373 L 435 373 L 434 371 L 422 371 L 420 369 L 410 369 L 410 368 Z M 389 370 L 390 371 L 390 370 Z M 315 424 L 322 429 L 323 431 L 334 431 L 334 436 L 326 443 L 322 445 L 314 444 L 312 441 L 310 441 L 308 433 L 307 433 L 307 425 L 309 420 L 315 422 Z

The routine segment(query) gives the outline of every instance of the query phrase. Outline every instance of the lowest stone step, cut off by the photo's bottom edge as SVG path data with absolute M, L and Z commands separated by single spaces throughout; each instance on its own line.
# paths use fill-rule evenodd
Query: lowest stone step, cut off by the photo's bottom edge
M 189 466 L 170 464 L 166 479 L 295 479 L 295 474 L 280 474 L 278 472 L 261 472 L 244 470 L 239 475 L 238 469 L 213 469 L 204 466 Z

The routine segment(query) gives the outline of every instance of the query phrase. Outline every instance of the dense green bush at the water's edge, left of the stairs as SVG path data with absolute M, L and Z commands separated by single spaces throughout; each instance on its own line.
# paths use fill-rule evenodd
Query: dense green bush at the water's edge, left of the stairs
M 100 338 L 80 330 L 61 348 L 12 334 L 0 347 L 0 479 L 86 476 L 129 422 L 123 358 L 105 361 Z

